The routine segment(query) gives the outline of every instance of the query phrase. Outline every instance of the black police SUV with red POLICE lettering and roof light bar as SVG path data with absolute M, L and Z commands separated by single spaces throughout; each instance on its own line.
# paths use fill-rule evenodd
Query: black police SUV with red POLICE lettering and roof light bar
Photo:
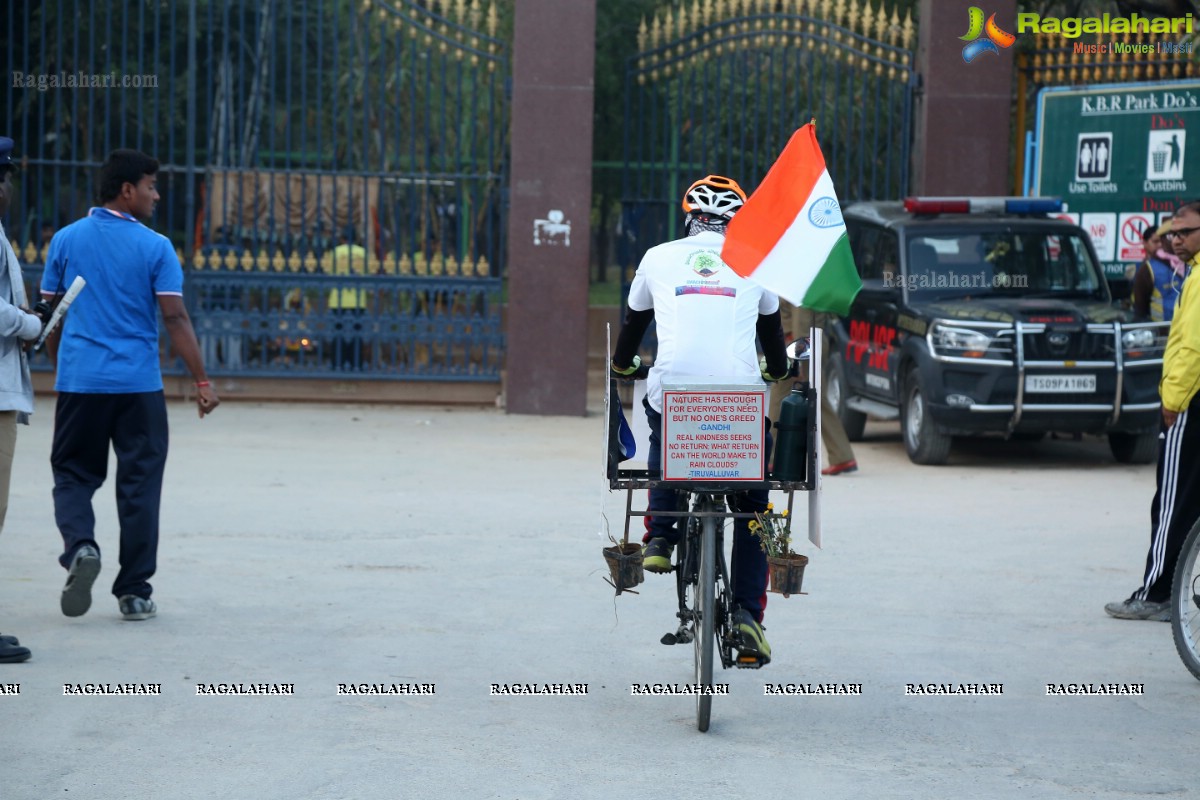
M 1154 459 L 1166 326 L 1114 307 L 1054 198 L 908 198 L 845 210 L 863 290 L 833 331 L 827 391 L 851 439 L 900 419 L 918 464 L 950 438 L 1108 434 Z

